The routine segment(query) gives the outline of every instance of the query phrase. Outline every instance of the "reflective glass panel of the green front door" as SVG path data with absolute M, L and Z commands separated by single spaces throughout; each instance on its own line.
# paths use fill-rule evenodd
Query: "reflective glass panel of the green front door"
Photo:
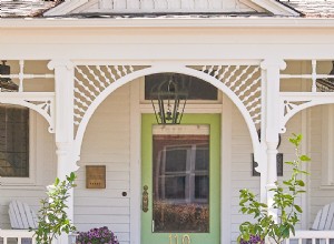
M 209 126 L 200 126 L 183 125 L 177 133 L 154 129 L 156 233 L 209 232 Z

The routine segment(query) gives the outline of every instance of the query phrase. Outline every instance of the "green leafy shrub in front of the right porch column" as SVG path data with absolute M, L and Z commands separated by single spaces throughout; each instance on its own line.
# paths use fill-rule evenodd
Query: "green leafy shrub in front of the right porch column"
M 273 209 L 278 212 L 278 221 L 268 214 L 268 206 L 257 200 L 256 195 L 249 190 L 240 190 L 239 206 L 243 214 L 254 216 L 255 222 L 244 222 L 239 226 L 240 235 L 238 243 L 242 240 L 249 241 L 250 236 L 259 236 L 261 240 L 269 237 L 271 242 L 282 243 L 289 237 L 289 234 L 295 234 L 295 225 L 299 221 L 302 207 L 296 204 L 296 199 L 299 194 L 305 193 L 305 183 L 301 180 L 301 175 L 308 174 L 301 170 L 302 163 L 311 161 L 307 155 L 299 152 L 302 135 L 293 134 L 289 142 L 295 146 L 295 160 L 285 162 L 292 166 L 292 175 L 287 181 L 283 181 L 283 185 L 275 182 L 276 187 L 269 191 L 274 192 Z

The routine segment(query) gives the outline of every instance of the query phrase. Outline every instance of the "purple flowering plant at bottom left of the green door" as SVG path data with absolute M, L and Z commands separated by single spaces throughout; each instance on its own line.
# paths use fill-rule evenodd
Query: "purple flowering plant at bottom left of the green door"
M 88 232 L 79 232 L 77 244 L 119 244 L 116 235 L 107 226 L 91 228 Z

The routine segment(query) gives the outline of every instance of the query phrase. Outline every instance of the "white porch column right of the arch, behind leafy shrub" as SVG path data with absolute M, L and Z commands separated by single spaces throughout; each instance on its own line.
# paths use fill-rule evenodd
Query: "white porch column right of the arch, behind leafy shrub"
M 263 69 L 266 85 L 265 85 L 265 143 L 267 154 L 267 179 L 266 179 L 266 191 L 267 191 L 267 205 L 268 213 L 277 220 L 277 211 L 273 206 L 274 193 L 268 191 L 275 187 L 277 181 L 277 169 L 276 169 L 276 154 L 279 135 L 279 70 L 285 69 L 286 64 L 281 59 L 266 59 L 262 62 L 261 68 Z

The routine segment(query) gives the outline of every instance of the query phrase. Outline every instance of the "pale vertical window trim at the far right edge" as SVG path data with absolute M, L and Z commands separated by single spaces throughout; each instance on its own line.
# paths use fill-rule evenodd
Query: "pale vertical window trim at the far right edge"
M 334 104 L 322 108 L 322 186 L 334 189 Z

